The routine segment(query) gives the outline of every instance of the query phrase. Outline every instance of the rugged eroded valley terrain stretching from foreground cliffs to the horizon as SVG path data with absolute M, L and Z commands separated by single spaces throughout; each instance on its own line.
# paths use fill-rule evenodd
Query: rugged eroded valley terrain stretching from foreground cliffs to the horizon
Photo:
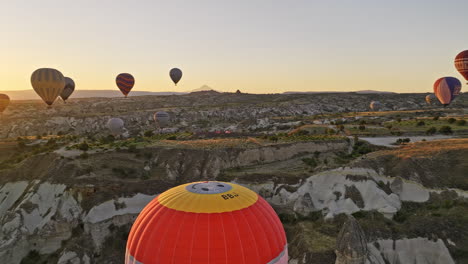
M 52 110 L 14 101 L 0 121 L 0 258 L 122 263 L 129 228 L 152 198 L 221 180 L 274 207 L 290 263 L 347 263 L 350 254 L 466 263 L 468 101 L 443 109 L 424 96 L 200 92 L 75 99 Z M 384 111 L 366 112 L 375 97 Z M 172 118 L 163 131 L 151 119 L 160 109 Z M 110 117 L 128 133 L 109 136 Z M 390 136 L 385 146 L 360 139 Z

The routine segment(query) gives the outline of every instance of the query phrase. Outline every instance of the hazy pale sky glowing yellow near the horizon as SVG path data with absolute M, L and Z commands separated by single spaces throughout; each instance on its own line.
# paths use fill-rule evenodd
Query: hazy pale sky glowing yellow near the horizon
M 59 69 L 77 89 L 426 92 L 468 49 L 467 0 L 0 0 L 0 90 Z M 184 76 L 174 87 L 169 69 Z M 465 89 L 465 88 L 464 88 Z

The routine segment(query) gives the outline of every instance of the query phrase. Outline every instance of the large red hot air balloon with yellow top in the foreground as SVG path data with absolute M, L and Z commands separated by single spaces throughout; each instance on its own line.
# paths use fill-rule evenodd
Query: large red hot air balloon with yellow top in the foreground
M 125 264 L 287 264 L 283 226 L 271 206 L 234 183 L 194 182 L 153 199 L 135 220 Z

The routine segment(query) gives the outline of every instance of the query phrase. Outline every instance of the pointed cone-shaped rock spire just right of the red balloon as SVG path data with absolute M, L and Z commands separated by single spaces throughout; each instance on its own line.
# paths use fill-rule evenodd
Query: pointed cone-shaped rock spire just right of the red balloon
M 359 223 L 352 216 L 341 228 L 336 239 L 335 264 L 365 264 L 367 260 L 367 241 Z

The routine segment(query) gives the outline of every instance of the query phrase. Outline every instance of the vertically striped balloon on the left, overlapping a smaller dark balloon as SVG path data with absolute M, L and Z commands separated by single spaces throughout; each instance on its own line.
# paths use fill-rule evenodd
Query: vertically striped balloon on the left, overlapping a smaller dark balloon
M 31 75 L 34 91 L 51 107 L 65 86 L 63 74 L 55 69 L 42 68 Z

